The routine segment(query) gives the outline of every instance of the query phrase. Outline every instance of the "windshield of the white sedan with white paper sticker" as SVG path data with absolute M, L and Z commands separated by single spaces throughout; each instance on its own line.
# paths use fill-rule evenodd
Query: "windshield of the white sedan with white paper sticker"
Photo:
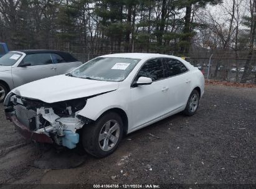
M 100 81 L 123 81 L 140 62 L 135 58 L 98 57 L 90 60 L 68 76 Z

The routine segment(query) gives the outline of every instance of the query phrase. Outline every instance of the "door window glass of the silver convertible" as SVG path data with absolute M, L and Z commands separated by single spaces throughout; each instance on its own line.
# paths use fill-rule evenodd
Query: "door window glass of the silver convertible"
M 26 55 L 23 59 L 24 63 L 31 63 L 32 66 L 37 65 L 46 65 L 52 63 L 52 58 L 50 57 L 50 53 L 37 53 Z

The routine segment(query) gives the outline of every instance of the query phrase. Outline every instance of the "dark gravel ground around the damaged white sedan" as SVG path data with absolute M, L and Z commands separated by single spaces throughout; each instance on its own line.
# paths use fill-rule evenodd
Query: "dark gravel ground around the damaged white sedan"
M 33 167 L 42 150 L 24 145 L 0 104 L 0 183 L 256 184 L 256 88 L 209 85 L 200 103 L 192 117 L 129 134 L 109 157 L 59 170 Z

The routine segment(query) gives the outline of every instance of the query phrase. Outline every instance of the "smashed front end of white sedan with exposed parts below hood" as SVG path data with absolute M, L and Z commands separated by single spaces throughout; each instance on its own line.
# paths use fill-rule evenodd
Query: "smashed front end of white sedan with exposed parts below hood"
M 9 93 L 4 107 L 6 118 L 14 123 L 26 139 L 73 149 L 79 142 L 77 130 L 92 122 L 78 115 L 86 103 L 87 98 L 44 103 Z

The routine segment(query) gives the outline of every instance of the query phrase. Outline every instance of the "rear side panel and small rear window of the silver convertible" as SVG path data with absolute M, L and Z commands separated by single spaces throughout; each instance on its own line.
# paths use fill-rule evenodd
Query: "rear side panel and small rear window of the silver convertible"
M 61 75 L 64 73 L 69 73 L 73 69 L 82 65 L 81 62 L 66 62 L 63 57 L 56 53 L 51 53 L 52 60 L 54 62 L 54 67 L 56 68 L 56 74 Z

